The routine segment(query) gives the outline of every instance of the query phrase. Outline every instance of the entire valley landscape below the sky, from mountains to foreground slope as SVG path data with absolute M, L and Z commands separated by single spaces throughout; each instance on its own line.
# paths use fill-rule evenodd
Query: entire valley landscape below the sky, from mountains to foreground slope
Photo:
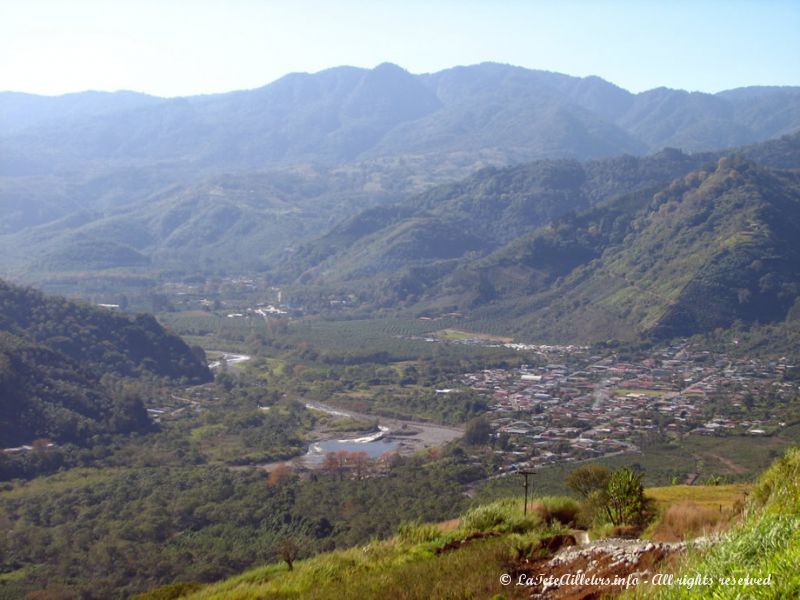
M 774 514 L 796 549 L 798 240 L 796 86 L 0 92 L 0 600 L 562 597 L 497 577 L 725 572 Z

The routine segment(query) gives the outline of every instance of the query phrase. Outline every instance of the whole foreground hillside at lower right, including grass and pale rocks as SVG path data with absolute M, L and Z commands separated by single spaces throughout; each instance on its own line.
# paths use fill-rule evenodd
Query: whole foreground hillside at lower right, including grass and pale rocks
M 687 553 L 692 544 L 684 542 L 650 542 L 610 539 L 587 542 L 577 540 L 564 523 L 576 506 L 566 499 L 545 498 L 532 503 L 530 515 L 521 513 L 521 499 L 508 499 L 474 508 L 454 522 L 440 525 L 407 524 L 386 541 L 366 546 L 321 554 L 297 561 L 287 570 L 283 563 L 274 563 L 251 570 L 227 581 L 201 587 L 198 584 L 175 584 L 139 596 L 141 600 L 177 595 L 201 599 L 282 598 L 296 595 L 303 598 L 385 598 L 405 599 L 438 597 L 477 598 L 588 598 L 608 593 L 625 593 L 629 598 L 705 598 L 709 592 L 721 598 L 741 597 L 752 591 L 745 584 L 727 587 L 723 577 L 764 578 L 772 574 L 769 585 L 760 586 L 755 597 L 789 598 L 800 591 L 794 564 L 798 543 L 798 468 L 797 450 L 789 451 L 765 472 L 745 507 L 744 516 L 735 510 L 725 512 L 734 519 L 728 533 L 710 544 L 700 543 Z M 656 498 L 666 498 L 672 488 L 648 491 Z M 721 498 L 715 486 L 689 488 L 690 496 L 700 504 L 689 509 L 685 502 L 666 501 L 660 509 L 658 523 L 668 522 L 672 509 L 695 511 L 710 518 L 713 511 L 703 512 L 702 498 Z M 741 490 L 729 490 L 738 494 Z M 716 500 L 715 500 L 716 502 Z M 720 505 L 721 506 L 721 505 Z M 571 508 L 568 508 L 571 507 Z M 714 505 L 716 511 L 716 505 Z M 733 512 L 731 512 L 733 511 Z M 550 515 L 549 521 L 542 515 Z M 573 513 L 574 514 L 574 513 Z M 689 517 L 691 519 L 691 517 Z M 692 539 L 703 533 L 695 525 L 684 522 Z M 648 530 L 649 531 L 649 530 Z M 578 547 L 574 547 L 576 542 Z M 675 557 L 688 556 L 681 565 Z M 678 566 L 681 565 L 681 566 Z M 580 569 L 580 571 L 579 571 Z M 558 580 L 564 574 L 584 573 L 586 582 L 546 586 L 543 579 Z M 701 573 L 714 580 L 709 586 L 649 585 L 656 573 L 693 576 Z M 500 579 L 508 574 L 509 579 Z M 591 584 L 588 580 L 615 576 L 628 585 Z M 629 576 L 635 578 L 631 582 Z M 523 582 L 522 585 L 517 585 Z M 626 591 L 627 588 L 627 591 Z M 182 596 L 183 597 L 183 596 Z

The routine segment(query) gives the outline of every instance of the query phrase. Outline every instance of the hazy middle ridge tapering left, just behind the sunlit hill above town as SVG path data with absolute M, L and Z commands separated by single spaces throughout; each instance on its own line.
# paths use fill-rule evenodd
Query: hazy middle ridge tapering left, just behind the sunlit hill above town
M 359 213 L 300 246 L 276 269 L 284 279 L 332 282 L 400 267 L 486 254 L 567 213 L 608 197 L 664 183 L 705 155 L 665 150 L 580 163 L 537 161 L 487 168 L 394 206 Z

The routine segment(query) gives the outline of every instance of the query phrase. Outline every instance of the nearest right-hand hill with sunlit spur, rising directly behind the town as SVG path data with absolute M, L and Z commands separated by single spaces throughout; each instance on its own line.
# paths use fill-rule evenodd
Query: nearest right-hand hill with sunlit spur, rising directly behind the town
M 463 265 L 450 282 L 483 286 L 483 297 L 468 294 L 473 305 L 503 306 L 521 328 L 549 338 L 781 322 L 800 292 L 798 183 L 796 172 L 721 159 L 655 193 L 557 220 Z

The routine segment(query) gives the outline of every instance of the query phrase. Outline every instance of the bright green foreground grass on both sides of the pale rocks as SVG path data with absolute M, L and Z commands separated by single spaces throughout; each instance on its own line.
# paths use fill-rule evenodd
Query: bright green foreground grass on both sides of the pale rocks
M 648 495 L 663 509 L 687 498 L 700 505 L 732 506 L 749 486 L 671 486 L 650 488 Z M 650 598 L 790 598 L 800 597 L 800 449 L 776 461 L 750 490 L 740 524 L 705 554 L 690 553 L 681 573 L 753 577 L 772 573 L 772 585 L 746 590 L 718 586 L 687 590 L 678 586 L 640 587 L 633 597 Z M 545 499 L 545 502 L 559 502 Z M 283 563 L 253 569 L 189 596 L 196 600 L 256 598 L 488 598 L 516 590 L 504 588 L 499 574 L 521 543 L 554 533 L 537 517 L 525 519 L 519 499 L 506 499 L 466 513 L 453 527 L 409 525 L 394 538 L 298 561 L 293 571 Z M 475 539 L 456 551 L 436 549 L 475 532 L 494 535 Z M 152 595 L 141 598 L 157 598 Z M 509 595 L 510 593 L 510 595 Z

